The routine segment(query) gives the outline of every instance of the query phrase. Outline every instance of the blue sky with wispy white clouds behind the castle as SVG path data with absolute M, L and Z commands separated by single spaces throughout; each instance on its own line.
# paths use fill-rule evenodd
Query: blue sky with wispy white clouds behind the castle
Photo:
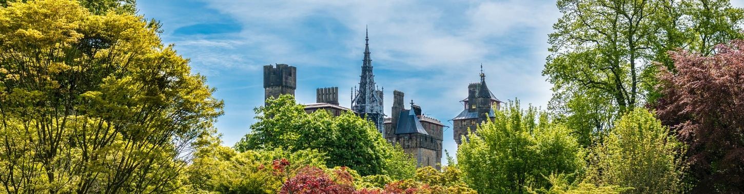
M 740 1 L 734 4 L 740 5 Z M 560 16 L 555 1 L 138 1 L 147 18 L 162 22 L 161 38 L 191 60 L 225 100 L 217 129 L 226 146 L 249 132 L 263 104 L 263 65 L 297 67 L 296 97 L 315 103 L 315 88 L 338 86 L 342 106 L 359 83 L 365 26 L 375 80 L 405 92 L 430 117 L 448 121 L 462 109 L 468 83 L 484 66 L 501 100 L 545 106 L 551 85 L 541 71 L 548 33 Z M 444 149 L 456 152 L 452 129 Z M 446 161 L 443 161 L 446 162 Z

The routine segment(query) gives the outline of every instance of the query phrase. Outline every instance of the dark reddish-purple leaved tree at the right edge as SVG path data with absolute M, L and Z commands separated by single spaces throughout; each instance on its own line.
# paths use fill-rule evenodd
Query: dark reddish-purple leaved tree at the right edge
M 737 40 L 713 56 L 672 52 L 676 71 L 658 75 L 658 114 L 690 146 L 693 192 L 744 192 L 743 48 Z

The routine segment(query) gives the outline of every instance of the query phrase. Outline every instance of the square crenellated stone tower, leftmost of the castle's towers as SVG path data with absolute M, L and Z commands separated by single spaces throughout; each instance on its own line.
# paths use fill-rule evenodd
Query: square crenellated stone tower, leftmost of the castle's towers
M 286 64 L 263 66 L 263 99 L 279 97 L 282 94 L 295 95 L 297 87 L 297 68 Z

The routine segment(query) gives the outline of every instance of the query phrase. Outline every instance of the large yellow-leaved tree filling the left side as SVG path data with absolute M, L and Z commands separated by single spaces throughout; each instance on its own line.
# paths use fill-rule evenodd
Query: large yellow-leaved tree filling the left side
M 78 1 L 0 7 L 7 193 L 173 193 L 222 101 L 156 25 Z

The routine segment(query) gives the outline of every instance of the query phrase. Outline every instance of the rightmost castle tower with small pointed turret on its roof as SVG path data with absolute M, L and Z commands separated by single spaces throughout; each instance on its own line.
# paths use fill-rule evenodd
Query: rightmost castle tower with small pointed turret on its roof
M 464 103 L 465 109 L 458 116 L 452 118 L 453 135 L 458 145 L 462 143 L 461 137 L 468 134 L 468 129 L 476 132 L 478 123 L 482 123 L 487 119 L 493 120 L 493 117 L 496 115 L 494 109 L 500 109 L 501 103 L 503 103 L 488 89 L 488 85 L 486 85 L 486 74 L 483 73 L 483 65 L 481 65 L 480 76 L 481 82 L 470 83 L 467 87 L 467 98 L 461 100 Z

